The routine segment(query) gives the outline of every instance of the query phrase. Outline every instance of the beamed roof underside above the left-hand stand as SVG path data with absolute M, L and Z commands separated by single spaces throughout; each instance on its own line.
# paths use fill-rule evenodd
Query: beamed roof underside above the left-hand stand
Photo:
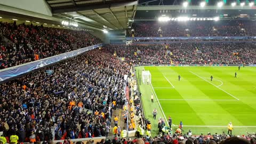
M 45 0 L 54 17 L 75 19 L 84 25 L 107 30 L 128 28 L 137 0 Z

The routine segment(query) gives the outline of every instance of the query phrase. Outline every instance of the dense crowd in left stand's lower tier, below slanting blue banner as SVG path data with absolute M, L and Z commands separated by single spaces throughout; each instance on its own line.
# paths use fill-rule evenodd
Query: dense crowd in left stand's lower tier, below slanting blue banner
M 0 132 L 19 142 L 107 136 L 129 67 L 97 49 L 1 84 Z

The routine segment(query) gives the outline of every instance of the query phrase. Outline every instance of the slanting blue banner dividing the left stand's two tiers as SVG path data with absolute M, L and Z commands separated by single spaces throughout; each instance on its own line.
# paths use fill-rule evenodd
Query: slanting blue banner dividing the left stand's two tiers
M 52 63 L 55 63 L 55 62 L 58 62 L 58 61 L 61 61 L 61 60 L 67 59 L 67 58 L 75 57 L 75 56 L 82 54 L 86 51 L 96 49 L 97 47 L 100 47 L 102 45 L 103 44 L 92 45 L 92 46 L 84 47 L 82 49 L 78 49 L 75 51 L 66 52 L 66 53 L 62 53 L 59 55 L 54 55 L 53 57 L 45 58 L 42 60 L 28 62 L 28 63 L 24 63 L 19 66 L 2 69 L 2 70 L 0 70 L 0 82 L 6 80 L 8 78 L 11 78 L 11 77 L 15 77 L 15 76 L 18 76 L 21 74 L 28 73 L 31 70 L 35 70 L 37 68 L 41 68 L 41 67 L 50 65 Z

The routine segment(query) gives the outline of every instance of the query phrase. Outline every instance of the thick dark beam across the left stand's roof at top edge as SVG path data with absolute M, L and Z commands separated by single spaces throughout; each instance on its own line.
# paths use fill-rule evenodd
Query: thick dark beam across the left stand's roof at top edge
M 76 2 L 80 2 L 80 1 L 76 1 Z M 137 4 L 137 0 L 114 0 L 114 1 L 106 1 L 105 3 L 99 2 L 99 3 L 92 3 L 92 4 L 57 6 L 57 7 L 52 7 L 52 13 L 54 14 L 54 13 L 74 12 L 74 11 L 86 11 L 86 10 L 92 10 L 92 9 L 107 9 L 109 7 L 119 7 L 119 6 L 134 5 L 134 4 Z

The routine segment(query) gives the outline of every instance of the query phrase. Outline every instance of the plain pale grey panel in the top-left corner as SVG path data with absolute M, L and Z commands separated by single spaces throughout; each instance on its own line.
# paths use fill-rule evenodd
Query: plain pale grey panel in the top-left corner
M 51 8 L 44 0 L 1 0 L 0 4 L 52 17 Z

